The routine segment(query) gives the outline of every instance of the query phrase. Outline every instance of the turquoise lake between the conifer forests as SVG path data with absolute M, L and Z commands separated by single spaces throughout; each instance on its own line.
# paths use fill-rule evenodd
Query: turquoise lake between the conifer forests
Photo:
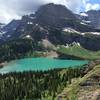
M 50 58 L 25 58 L 11 61 L 3 68 L 0 73 L 23 72 L 23 71 L 47 71 L 55 68 L 77 67 L 87 64 L 88 61 L 82 60 L 61 60 Z

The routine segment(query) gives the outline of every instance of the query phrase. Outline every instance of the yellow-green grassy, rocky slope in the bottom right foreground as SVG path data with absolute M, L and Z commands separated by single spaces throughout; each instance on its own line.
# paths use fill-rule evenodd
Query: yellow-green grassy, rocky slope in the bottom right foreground
M 99 77 L 98 81 L 100 82 L 100 65 L 95 66 L 84 77 L 74 79 L 72 84 L 67 86 L 63 90 L 63 92 L 59 95 L 62 98 L 61 100 L 84 100 L 80 99 L 81 97 L 86 97 L 85 98 L 86 100 L 95 100 L 95 99 L 87 99 L 89 96 L 91 98 L 94 98 L 93 95 L 95 91 L 96 93 L 98 90 L 100 92 L 100 85 L 98 85 L 99 82 L 97 82 L 97 79 L 93 80 L 94 76 Z M 95 83 L 95 85 L 85 85 L 85 86 L 81 85 L 86 83 L 87 81 L 90 81 L 92 84 Z

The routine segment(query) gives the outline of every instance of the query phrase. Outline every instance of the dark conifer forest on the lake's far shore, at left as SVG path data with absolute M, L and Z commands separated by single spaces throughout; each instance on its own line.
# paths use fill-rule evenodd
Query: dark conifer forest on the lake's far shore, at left
M 44 51 L 41 44 L 38 44 L 31 39 L 19 39 L 13 42 L 9 41 L 0 46 L 0 62 L 25 57 L 44 56 Z

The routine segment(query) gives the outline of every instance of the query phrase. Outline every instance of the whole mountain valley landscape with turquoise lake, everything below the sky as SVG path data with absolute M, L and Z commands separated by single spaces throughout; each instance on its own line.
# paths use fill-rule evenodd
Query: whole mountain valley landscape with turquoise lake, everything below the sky
M 100 100 L 100 11 L 42 5 L 0 24 L 0 100 Z

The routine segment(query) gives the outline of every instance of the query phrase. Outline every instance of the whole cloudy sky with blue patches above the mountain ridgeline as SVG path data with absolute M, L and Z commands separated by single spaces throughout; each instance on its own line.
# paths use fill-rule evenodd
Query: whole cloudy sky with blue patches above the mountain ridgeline
M 48 3 L 65 5 L 74 13 L 100 9 L 100 0 L 0 0 L 0 22 L 8 23 L 13 19 L 20 19 Z

